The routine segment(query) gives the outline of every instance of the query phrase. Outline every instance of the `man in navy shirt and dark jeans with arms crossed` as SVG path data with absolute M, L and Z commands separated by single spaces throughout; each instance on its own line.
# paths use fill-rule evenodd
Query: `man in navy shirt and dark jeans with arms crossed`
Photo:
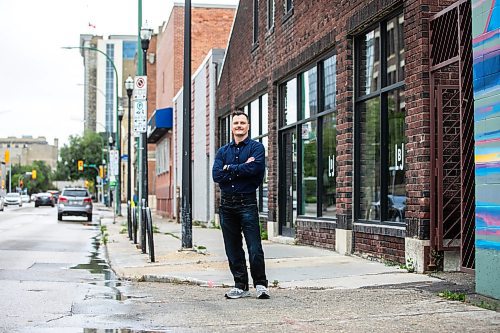
M 260 239 L 259 212 L 255 191 L 264 179 L 265 152 L 262 143 L 248 137 L 248 116 L 241 110 L 232 115 L 234 140 L 217 152 L 212 177 L 221 189 L 220 224 L 234 288 L 227 298 L 250 296 L 248 272 L 243 250 L 245 236 L 250 260 L 250 273 L 257 298 L 269 298 Z

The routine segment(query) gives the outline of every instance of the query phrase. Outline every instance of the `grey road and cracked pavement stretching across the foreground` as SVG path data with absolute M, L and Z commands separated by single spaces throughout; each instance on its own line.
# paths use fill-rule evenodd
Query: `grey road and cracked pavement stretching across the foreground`
M 425 283 L 226 300 L 222 288 L 116 281 L 94 221 L 57 222 L 55 208 L 32 204 L 0 212 L 0 332 L 500 331 L 500 313 Z

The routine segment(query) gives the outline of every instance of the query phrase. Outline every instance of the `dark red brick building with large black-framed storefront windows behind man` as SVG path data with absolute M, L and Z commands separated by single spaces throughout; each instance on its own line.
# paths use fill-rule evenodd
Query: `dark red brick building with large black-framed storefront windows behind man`
M 239 2 L 219 145 L 244 107 L 268 153 L 259 201 L 270 238 L 427 267 L 429 22 L 456 2 Z

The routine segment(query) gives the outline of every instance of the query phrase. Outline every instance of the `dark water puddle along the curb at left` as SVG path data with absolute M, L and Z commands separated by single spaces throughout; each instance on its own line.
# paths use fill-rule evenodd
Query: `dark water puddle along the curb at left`
M 103 285 L 111 288 L 113 290 L 113 295 L 109 295 L 106 298 L 113 298 L 119 301 L 128 299 L 129 297 L 122 295 L 122 293 L 118 290 L 117 287 L 120 287 L 122 284 L 119 280 L 117 280 L 115 273 L 111 270 L 106 260 L 102 258 L 102 253 L 100 251 L 100 236 L 92 237 L 92 248 L 92 252 L 90 253 L 90 256 L 88 256 L 88 263 L 78 264 L 70 267 L 70 269 L 84 269 L 92 274 L 103 275 L 104 278 L 102 282 L 91 282 L 91 284 Z

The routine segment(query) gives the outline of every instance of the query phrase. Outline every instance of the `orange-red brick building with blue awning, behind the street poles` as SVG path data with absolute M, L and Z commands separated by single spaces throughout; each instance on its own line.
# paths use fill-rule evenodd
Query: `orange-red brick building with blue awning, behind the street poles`
M 234 20 L 235 7 L 229 5 L 192 5 L 191 9 L 191 71 L 201 64 L 212 48 L 225 48 Z M 160 28 L 156 47 L 156 109 L 173 106 L 173 98 L 182 88 L 184 66 L 184 6 L 175 4 L 168 22 Z M 175 115 L 174 115 L 175 119 Z M 175 125 L 174 125 L 175 126 Z M 151 140 L 150 140 L 151 142 Z M 154 139 L 156 166 L 150 167 L 154 177 L 156 208 L 159 214 L 174 217 L 174 149 L 178 144 L 172 131 Z M 161 162 L 158 161 L 161 158 Z

